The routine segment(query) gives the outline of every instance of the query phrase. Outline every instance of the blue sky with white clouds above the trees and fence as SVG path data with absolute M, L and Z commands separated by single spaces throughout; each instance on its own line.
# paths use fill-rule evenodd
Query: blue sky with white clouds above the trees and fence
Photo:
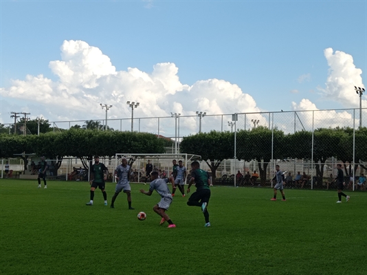
M 1 0 L 0 12 L 1 123 L 12 122 L 10 111 L 50 121 L 103 118 L 100 102 L 117 107 L 111 118 L 129 118 L 126 99 L 140 101 L 141 117 L 359 107 L 353 85 L 345 83 L 364 87 L 366 79 L 366 1 Z M 50 62 L 65 61 L 75 47 L 63 52 L 65 41 L 99 49 L 115 73 L 107 69 L 93 87 L 69 83 L 71 67 L 85 79 L 76 64 L 87 57 L 71 56 L 71 67 L 52 70 Z M 166 67 L 155 72 L 161 63 Z M 52 85 L 37 87 L 27 75 Z M 56 90 L 88 108 L 53 101 Z

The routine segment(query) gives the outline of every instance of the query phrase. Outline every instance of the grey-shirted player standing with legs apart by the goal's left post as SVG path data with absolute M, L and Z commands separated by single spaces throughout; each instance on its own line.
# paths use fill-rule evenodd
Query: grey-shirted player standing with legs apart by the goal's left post
M 115 199 L 118 197 L 120 192 L 123 190 L 127 195 L 127 203 L 129 204 L 129 210 L 134 210 L 135 208 L 131 207 L 131 187 L 129 184 L 129 172 L 130 166 L 127 164 L 126 157 L 122 157 L 122 164 L 120 164 L 115 169 L 115 179 L 118 181 L 115 188 L 115 195 L 112 197 L 111 208 L 115 208 Z

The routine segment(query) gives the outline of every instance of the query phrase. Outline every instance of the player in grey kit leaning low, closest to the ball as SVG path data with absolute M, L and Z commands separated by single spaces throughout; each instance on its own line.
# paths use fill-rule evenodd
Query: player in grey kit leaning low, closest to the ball
M 144 191 L 144 189 L 140 189 L 140 192 L 151 196 L 153 191 L 156 190 L 159 195 L 161 195 L 161 201 L 157 203 L 153 207 L 153 211 L 159 214 L 162 217 L 162 220 L 159 224 L 163 224 L 165 221 L 168 221 L 168 228 L 175 228 L 176 225 L 173 221 L 170 220 L 168 214 L 166 214 L 166 210 L 170 207 L 170 203 L 172 203 L 172 195 L 170 194 L 170 190 L 168 189 L 167 182 L 170 180 L 171 184 L 174 184 L 173 177 L 169 179 L 159 179 L 158 172 L 153 171 L 151 173 L 151 185 L 149 186 L 148 191 Z

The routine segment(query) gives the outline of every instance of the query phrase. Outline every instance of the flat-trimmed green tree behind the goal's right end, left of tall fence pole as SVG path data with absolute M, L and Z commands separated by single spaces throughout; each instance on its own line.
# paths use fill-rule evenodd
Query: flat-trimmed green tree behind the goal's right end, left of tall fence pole
M 230 159 L 234 155 L 234 133 L 210 131 L 210 133 L 198 133 L 183 137 L 180 151 L 201 155 L 212 171 L 215 181 L 216 169 L 224 159 Z

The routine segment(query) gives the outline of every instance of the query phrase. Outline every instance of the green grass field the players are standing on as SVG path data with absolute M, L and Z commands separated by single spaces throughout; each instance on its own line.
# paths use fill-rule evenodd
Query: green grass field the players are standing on
M 159 226 L 159 201 L 131 184 L 133 207 L 95 205 L 86 182 L 0 181 L 0 274 L 367 274 L 367 192 L 335 203 L 336 191 L 214 186 L 204 228 L 201 209 L 175 197 L 177 228 Z M 107 184 L 110 203 L 114 184 Z M 193 188 L 194 189 L 194 188 Z M 147 214 L 145 221 L 137 212 Z

